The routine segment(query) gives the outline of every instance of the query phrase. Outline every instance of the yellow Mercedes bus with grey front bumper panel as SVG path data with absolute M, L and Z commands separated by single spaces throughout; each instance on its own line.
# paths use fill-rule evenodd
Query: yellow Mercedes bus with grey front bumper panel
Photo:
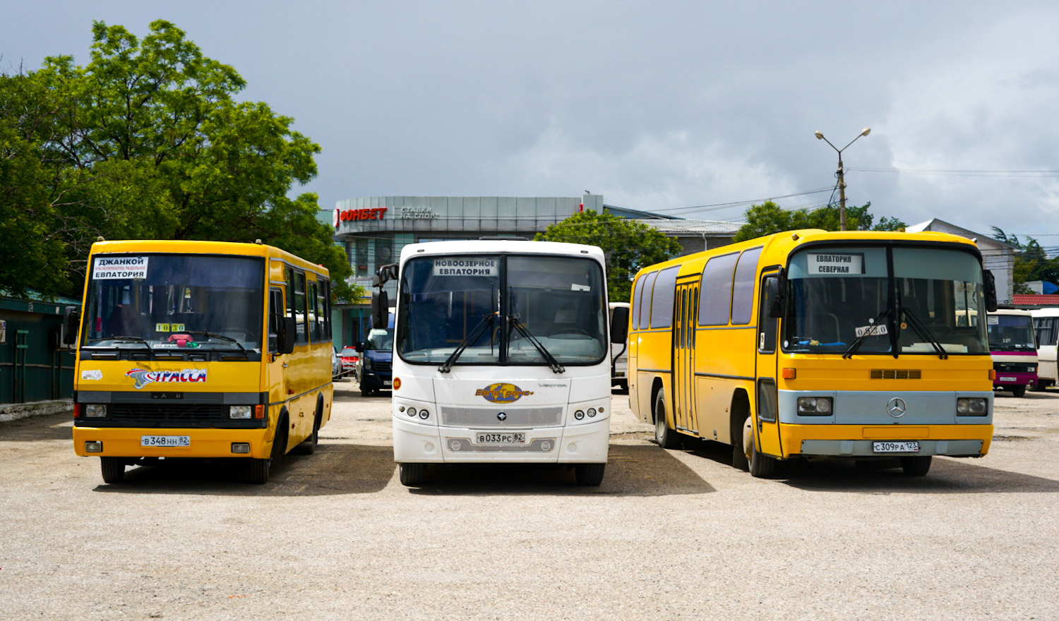
M 981 457 L 992 275 L 969 239 L 795 231 L 680 257 L 633 282 L 629 402 L 656 439 L 731 444 L 771 476 L 797 457 Z

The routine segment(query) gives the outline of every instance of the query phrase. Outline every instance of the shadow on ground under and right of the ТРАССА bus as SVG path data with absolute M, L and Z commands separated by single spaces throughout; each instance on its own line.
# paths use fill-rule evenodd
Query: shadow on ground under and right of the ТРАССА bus
M 312 455 L 286 455 L 265 485 L 247 482 L 246 460 L 170 459 L 127 468 L 125 480 L 101 483 L 95 491 L 218 496 L 372 494 L 387 487 L 394 470 L 390 446 L 319 444 Z

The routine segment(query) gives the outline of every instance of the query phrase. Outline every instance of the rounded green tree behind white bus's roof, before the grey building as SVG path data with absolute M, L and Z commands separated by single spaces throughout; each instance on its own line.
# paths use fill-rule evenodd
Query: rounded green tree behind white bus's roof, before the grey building
M 642 268 L 672 258 L 680 243 L 641 222 L 618 218 L 604 211 L 579 212 L 561 222 L 549 224 L 538 241 L 586 243 L 603 249 L 607 257 L 607 294 L 611 302 L 628 302 L 632 278 Z

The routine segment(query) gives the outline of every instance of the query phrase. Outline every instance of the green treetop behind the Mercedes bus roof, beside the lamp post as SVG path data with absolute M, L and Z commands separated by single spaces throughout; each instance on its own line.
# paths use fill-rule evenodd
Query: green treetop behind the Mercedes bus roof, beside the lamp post
M 897 218 L 882 217 L 875 223 L 870 213 L 872 203 L 861 206 L 846 207 L 846 229 L 849 231 L 897 231 L 907 224 Z M 772 201 L 760 205 L 751 205 L 747 209 L 747 223 L 736 233 L 734 241 L 744 241 L 783 231 L 798 229 L 823 229 L 839 231 L 841 218 L 838 207 L 827 206 L 820 209 L 784 209 Z

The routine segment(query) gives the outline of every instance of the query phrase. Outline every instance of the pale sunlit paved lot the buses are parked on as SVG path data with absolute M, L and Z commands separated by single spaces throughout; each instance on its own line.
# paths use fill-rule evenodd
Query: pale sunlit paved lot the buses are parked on
M 774 480 L 663 451 L 615 395 L 599 488 L 396 477 L 389 403 L 338 384 L 316 455 L 107 486 L 68 415 L 0 423 L 0 619 L 1056 619 L 1059 391 L 998 397 L 982 459 Z

